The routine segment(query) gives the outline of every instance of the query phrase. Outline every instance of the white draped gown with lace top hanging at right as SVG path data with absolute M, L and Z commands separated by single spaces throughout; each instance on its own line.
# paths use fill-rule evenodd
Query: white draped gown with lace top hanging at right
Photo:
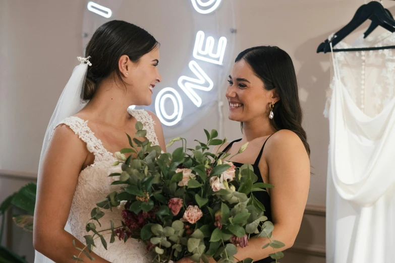
M 394 45 L 394 34 L 336 48 Z M 395 262 L 395 49 L 333 52 L 326 262 Z

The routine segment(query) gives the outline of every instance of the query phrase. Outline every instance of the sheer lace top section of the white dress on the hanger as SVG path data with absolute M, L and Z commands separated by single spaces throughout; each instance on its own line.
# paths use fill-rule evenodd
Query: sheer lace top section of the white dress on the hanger
M 362 36 L 353 45 L 339 42 L 340 48 L 390 46 L 395 42 L 395 34 L 385 32 L 376 37 Z M 334 52 L 333 53 L 342 85 L 359 109 L 367 116 L 374 117 L 395 95 L 395 53 L 392 49 Z M 330 98 L 334 85 L 334 74 L 326 92 L 324 115 L 328 116 Z

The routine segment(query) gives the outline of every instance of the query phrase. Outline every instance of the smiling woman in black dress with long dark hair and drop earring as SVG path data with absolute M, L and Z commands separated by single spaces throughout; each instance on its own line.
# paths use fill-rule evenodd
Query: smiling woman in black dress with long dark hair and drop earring
M 219 151 L 236 154 L 240 167 L 253 164 L 258 182 L 274 185 L 267 192 L 254 192 L 265 206 L 265 216 L 274 224 L 273 239 L 290 248 L 299 232 L 310 183 L 310 148 L 302 127 L 302 108 L 291 57 L 278 47 L 258 46 L 241 52 L 229 75 L 226 96 L 229 119 L 239 121 L 243 137 Z M 216 150 L 215 150 L 216 151 Z M 225 158 L 226 159 L 226 158 Z M 236 258 L 254 262 L 275 261 L 271 247 L 262 249 L 266 238 L 252 238 L 238 248 Z

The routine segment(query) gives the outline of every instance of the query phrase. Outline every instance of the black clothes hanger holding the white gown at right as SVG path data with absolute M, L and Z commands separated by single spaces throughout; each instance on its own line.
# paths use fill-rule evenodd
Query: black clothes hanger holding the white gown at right
M 345 27 L 337 31 L 330 41 L 326 39 L 324 42 L 322 42 L 317 48 L 317 53 L 330 52 L 330 44 L 329 44 L 330 42 L 332 43 L 332 46 L 335 46 L 338 42 L 342 41 L 346 36 L 348 36 L 351 32 L 353 32 L 356 28 L 358 28 L 368 19 L 370 19 L 378 26 L 381 26 L 390 32 L 395 32 L 395 20 L 393 20 L 393 18 L 388 16 L 388 14 L 385 12 L 385 9 L 380 3 L 372 1 L 358 8 L 353 19 Z M 386 46 L 386 47 L 333 49 L 333 52 L 377 50 L 377 49 L 389 49 L 389 48 L 395 48 L 395 45 Z

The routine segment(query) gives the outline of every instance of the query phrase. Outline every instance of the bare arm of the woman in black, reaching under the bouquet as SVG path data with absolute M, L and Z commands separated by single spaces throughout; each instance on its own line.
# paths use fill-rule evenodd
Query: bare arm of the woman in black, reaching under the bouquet
M 306 207 L 310 184 L 310 160 L 299 137 L 290 130 L 279 130 L 266 143 L 260 167 L 267 165 L 270 189 L 272 223 L 271 240 L 285 243 L 282 251 L 292 247 L 299 232 Z M 265 164 L 266 163 L 266 164 Z M 260 170 L 262 170 L 260 168 Z M 259 260 L 273 253 L 267 238 L 251 238 L 248 246 L 238 248 L 235 257 Z

